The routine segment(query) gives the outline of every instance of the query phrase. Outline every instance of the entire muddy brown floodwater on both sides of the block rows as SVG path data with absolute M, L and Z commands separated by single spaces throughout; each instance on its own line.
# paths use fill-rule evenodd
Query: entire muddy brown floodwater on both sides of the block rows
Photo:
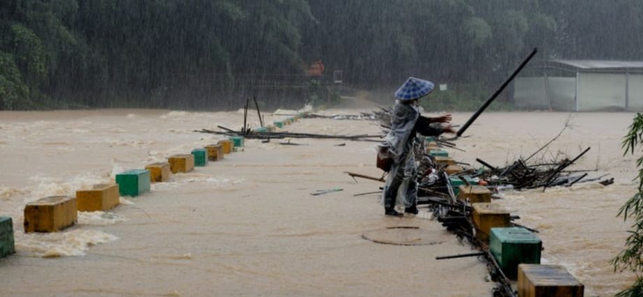
M 266 115 L 269 122 L 280 117 Z M 506 191 L 497 201 L 541 231 L 543 261 L 567 267 L 586 284 L 586 296 L 610 296 L 633 281 L 608 263 L 629 226 L 616 213 L 635 190 L 635 157 L 622 157 L 620 147 L 631 117 L 572 115 L 572 129 L 545 154 L 572 156 L 591 146 L 575 169 L 609 173 L 616 184 Z M 455 122 L 467 118 L 454 115 Z M 452 153 L 471 164 L 480 157 L 500 166 L 556 136 L 567 119 L 563 113 L 484 114 L 471 136 L 458 140 L 467 152 Z M 13 217 L 17 248 L 17 255 L 0 259 L 0 296 L 490 295 L 493 284 L 484 281 L 486 268 L 477 259 L 433 260 L 470 250 L 437 222 L 386 218 L 377 194 L 353 196 L 381 186 L 355 183 L 343 173 L 380 175 L 373 143 L 247 140 L 243 152 L 174 175 L 138 198 L 122 198 L 110 212 L 81 212 L 78 226 L 67 231 L 23 233 L 25 203 L 73 195 L 120 171 L 215 143 L 216 136 L 193 130 L 239 129 L 242 122 L 241 113 L 166 110 L 0 113 L 0 215 Z M 367 121 L 303 119 L 287 130 L 361 134 L 379 128 Z M 343 191 L 310 195 L 334 187 Z M 391 226 L 418 227 L 431 245 L 361 238 Z

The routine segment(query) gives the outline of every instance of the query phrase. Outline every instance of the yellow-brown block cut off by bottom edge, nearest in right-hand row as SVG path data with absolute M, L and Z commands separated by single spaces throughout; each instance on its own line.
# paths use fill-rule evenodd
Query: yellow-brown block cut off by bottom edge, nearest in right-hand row
M 584 285 L 563 266 L 518 266 L 518 297 L 583 297 L 584 291 Z

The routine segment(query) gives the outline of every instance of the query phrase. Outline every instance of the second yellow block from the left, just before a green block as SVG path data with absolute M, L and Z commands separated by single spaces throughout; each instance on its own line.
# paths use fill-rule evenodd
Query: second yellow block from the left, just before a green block
M 119 203 L 118 184 L 94 184 L 92 189 L 76 191 L 78 211 L 95 212 L 114 208 Z

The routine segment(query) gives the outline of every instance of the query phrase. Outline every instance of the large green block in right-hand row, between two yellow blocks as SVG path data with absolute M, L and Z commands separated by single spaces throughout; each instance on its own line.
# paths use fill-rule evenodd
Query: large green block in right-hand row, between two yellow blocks
M 540 264 L 542 241 L 524 228 L 491 228 L 489 249 L 507 277 L 518 277 L 519 264 Z

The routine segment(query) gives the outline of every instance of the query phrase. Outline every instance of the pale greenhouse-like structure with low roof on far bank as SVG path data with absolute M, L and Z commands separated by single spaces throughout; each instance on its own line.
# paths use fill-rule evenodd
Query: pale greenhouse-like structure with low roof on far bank
M 549 60 L 516 78 L 517 108 L 642 111 L 643 61 Z

